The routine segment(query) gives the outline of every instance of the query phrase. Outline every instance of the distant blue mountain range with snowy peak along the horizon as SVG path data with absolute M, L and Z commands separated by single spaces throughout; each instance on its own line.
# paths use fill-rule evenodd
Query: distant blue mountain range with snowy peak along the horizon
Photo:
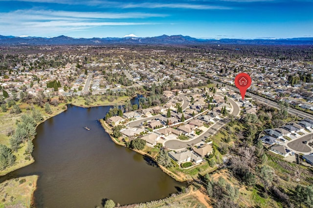
M 42 37 L 15 37 L 1 36 L 0 45 L 104 45 L 104 44 L 260 44 L 260 45 L 311 45 L 313 38 L 291 39 L 197 39 L 182 35 L 162 35 L 157 37 L 139 38 L 125 36 L 123 38 L 71 38 L 58 36 L 53 38 Z

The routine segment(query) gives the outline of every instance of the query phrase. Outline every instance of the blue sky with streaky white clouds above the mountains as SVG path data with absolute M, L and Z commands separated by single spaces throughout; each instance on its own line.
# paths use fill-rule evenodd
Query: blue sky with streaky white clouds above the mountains
M 313 37 L 313 0 L 0 0 L 0 35 Z

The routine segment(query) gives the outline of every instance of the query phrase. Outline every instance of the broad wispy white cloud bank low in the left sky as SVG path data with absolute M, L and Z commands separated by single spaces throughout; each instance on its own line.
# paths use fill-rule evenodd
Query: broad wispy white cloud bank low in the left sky
M 87 31 L 108 26 L 154 24 L 153 22 L 132 20 L 157 16 L 163 17 L 163 15 L 149 13 L 18 10 L 9 13 L 0 13 L 0 31 L 2 34 L 9 33 L 12 35 L 51 36 L 56 33 L 65 34 L 73 31 Z

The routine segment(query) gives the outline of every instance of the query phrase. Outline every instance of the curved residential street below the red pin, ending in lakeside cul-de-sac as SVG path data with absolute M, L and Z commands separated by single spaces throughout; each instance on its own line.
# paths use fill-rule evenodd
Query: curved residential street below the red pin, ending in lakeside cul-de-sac
M 240 113 L 240 108 L 238 104 L 236 104 L 236 102 L 231 99 L 228 99 L 228 101 L 233 107 L 233 112 L 231 113 L 231 115 L 238 116 Z M 201 136 L 197 137 L 196 139 L 193 139 L 190 141 L 168 140 L 164 143 L 164 146 L 166 148 L 173 149 L 173 150 L 178 150 L 178 149 L 188 147 L 188 146 L 194 146 L 200 143 L 202 140 L 205 140 L 204 137 L 209 137 L 210 135 L 216 134 L 216 132 L 228 122 L 229 122 L 228 119 L 218 121 L 216 124 L 212 125 L 205 133 L 203 133 Z

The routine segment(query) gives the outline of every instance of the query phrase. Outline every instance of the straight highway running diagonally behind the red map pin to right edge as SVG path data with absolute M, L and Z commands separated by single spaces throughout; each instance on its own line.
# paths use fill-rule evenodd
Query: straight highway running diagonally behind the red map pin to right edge
M 197 76 L 197 77 L 199 77 L 199 78 L 201 78 L 201 79 L 203 79 L 203 80 L 208 80 L 208 78 L 203 77 L 203 76 L 201 76 L 201 75 L 199 75 L 199 74 L 190 72 L 190 71 L 188 71 L 188 70 L 185 70 L 185 69 L 179 69 L 179 70 L 181 70 L 181 71 L 183 71 L 183 72 L 185 72 L 185 73 L 189 73 L 189 74 L 195 75 L 195 76 Z M 211 80 L 211 79 L 210 79 L 210 80 Z M 229 87 L 231 90 L 240 93 L 240 91 L 239 91 L 239 89 L 238 89 L 237 87 L 231 86 L 231 85 L 229 85 L 229 84 L 227 84 L 227 83 L 218 82 L 218 81 L 215 81 L 215 80 L 211 80 L 211 81 L 212 81 L 212 83 L 215 83 L 215 84 L 216 84 L 216 83 L 219 83 L 219 84 L 221 84 L 221 85 L 222 85 L 222 84 L 225 84 L 225 85 L 226 85 L 227 87 Z M 272 101 L 269 101 L 268 99 L 263 98 L 263 97 L 261 97 L 261 96 L 254 95 L 254 94 L 249 93 L 249 92 L 246 92 L 246 95 L 249 96 L 249 97 L 251 97 L 251 98 L 253 98 L 255 101 L 262 102 L 262 103 L 264 103 L 264 104 L 268 104 L 268 105 L 271 106 L 271 107 L 279 108 L 279 104 L 277 104 L 277 103 L 275 103 L 275 102 L 272 102 Z M 303 112 L 303 111 L 301 111 L 301 110 L 297 110 L 297 109 L 293 109 L 293 108 L 289 107 L 289 108 L 288 108 L 288 112 L 289 112 L 290 114 L 293 114 L 293 115 L 296 115 L 296 116 L 299 116 L 299 117 L 302 117 L 302 118 L 308 118 L 308 119 L 313 120 L 313 115 L 308 114 L 308 113 L 305 113 L 305 112 Z

